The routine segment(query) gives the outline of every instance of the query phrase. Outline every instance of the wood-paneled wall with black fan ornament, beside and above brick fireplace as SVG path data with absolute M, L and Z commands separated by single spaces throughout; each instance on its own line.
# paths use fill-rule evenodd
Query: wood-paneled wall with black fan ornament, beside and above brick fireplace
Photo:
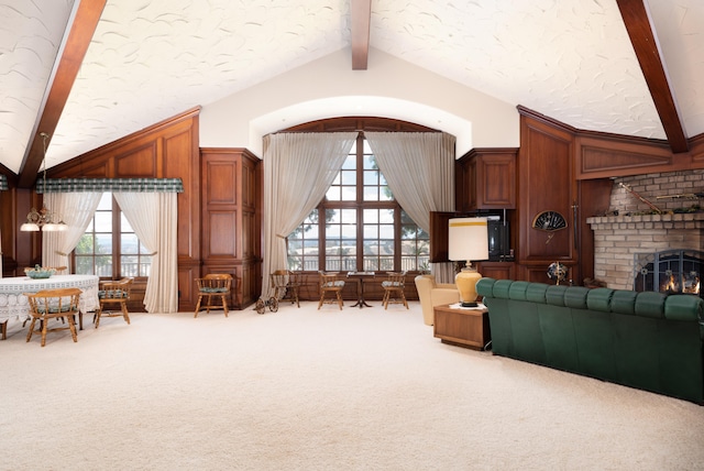
M 582 284 L 594 277 L 594 238 L 586 218 L 608 210 L 612 177 L 704 168 L 704 135 L 690 151 L 673 154 L 663 141 L 581 131 L 518 107 L 518 267 L 519 280 L 547 282 L 552 262 L 570 267 Z M 531 228 L 535 216 L 557 210 L 568 229 L 549 233 Z

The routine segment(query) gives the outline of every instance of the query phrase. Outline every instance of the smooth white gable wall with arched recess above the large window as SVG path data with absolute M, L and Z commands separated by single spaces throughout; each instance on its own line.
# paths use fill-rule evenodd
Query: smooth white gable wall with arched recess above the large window
M 201 147 L 246 147 L 262 155 L 262 136 L 323 118 L 378 116 L 457 136 L 458 156 L 473 147 L 517 147 L 514 105 L 370 50 L 366 70 L 352 70 L 343 48 L 202 107 Z

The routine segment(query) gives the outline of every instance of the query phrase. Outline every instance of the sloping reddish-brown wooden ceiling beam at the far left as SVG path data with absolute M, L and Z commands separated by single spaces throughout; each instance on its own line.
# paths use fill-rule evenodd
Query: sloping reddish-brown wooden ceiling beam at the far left
M 35 122 L 20 167 L 18 178 L 18 187 L 20 188 L 30 188 L 36 180 L 36 174 L 40 172 L 44 160 L 44 147 L 40 134 L 47 133 L 51 141 L 100 21 L 106 2 L 107 0 L 77 0 L 77 6 L 74 7 L 72 19 L 69 19 L 68 34 L 64 36 L 62 46 L 58 50 L 44 99 L 42 100 L 43 105 L 40 108 L 40 116 Z

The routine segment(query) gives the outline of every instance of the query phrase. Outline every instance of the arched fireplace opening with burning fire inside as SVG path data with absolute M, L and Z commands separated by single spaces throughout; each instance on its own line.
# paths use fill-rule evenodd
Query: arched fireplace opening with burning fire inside
M 703 252 L 664 250 L 635 255 L 634 289 L 661 293 L 689 293 L 701 296 L 700 276 Z

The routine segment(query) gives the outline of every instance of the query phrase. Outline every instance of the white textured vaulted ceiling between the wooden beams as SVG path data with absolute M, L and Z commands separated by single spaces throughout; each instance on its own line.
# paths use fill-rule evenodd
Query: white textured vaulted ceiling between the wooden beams
M 0 0 L 0 162 L 20 172 L 72 0 Z M 650 0 L 688 136 L 704 2 Z M 108 0 L 47 165 L 350 46 L 346 0 Z M 371 46 L 579 129 L 664 139 L 615 0 L 375 0 Z

